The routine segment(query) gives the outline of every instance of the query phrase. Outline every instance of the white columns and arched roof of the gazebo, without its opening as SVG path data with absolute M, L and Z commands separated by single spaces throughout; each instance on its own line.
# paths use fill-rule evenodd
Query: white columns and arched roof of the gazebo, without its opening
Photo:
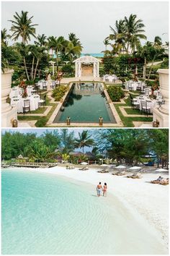
M 82 64 L 88 65 L 93 64 L 93 70 L 92 75 L 93 77 L 99 77 L 99 59 L 94 58 L 93 56 L 82 56 L 79 59 L 76 59 L 75 61 L 75 77 L 81 77 L 82 76 Z

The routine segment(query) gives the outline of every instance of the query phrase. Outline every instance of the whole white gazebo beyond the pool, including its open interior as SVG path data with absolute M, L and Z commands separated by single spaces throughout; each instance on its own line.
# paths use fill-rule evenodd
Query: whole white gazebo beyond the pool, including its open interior
M 75 77 L 99 77 L 99 59 L 93 56 L 82 56 L 73 62 L 75 63 Z

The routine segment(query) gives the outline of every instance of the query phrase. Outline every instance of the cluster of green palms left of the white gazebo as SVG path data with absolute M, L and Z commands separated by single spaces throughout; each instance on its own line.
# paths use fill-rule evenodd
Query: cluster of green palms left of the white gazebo
M 63 36 L 36 35 L 37 24 L 32 24 L 32 18 L 33 16 L 28 16 L 28 12 L 15 12 L 13 20 L 9 20 L 12 23 L 12 35 L 7 33 L 6 28 L 1 30 L 2 67 L 6 67 L 7 61 L 11 66 L 24 67 L 27 80 L 35 80 L 37 73 L 40 74 L 41 69 L 48 67 L 53 54 L 56 56 L 58 70 L 59 58 L 61 63 L 72 62 L 81 55 L 83 49 L 75 33 L 69 33 L 68 39 Z M 31 37 L 36 39 L 33 44 L 29 43 Z M 19 38 L 22 38 L 22 42 L 16 43 Z M 8 46 L 9 39 L 14 40 L 13 46 Z M 49 51 L 52 51 L 51 56 Z

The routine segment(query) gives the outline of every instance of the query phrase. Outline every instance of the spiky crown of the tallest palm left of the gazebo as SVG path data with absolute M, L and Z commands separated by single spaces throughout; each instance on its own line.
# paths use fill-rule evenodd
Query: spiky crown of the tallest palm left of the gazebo
M 30 40 L 30 36 L 36 38 L 35 36 L 35 26 L 37 24 L 32 24 L 32 17 L 27 17 L 28 12 L 21 12 L 20 16 L 15 12 L 14 20 L 9 20 L 12 22 L 11 31 L 12 38 L 17 40 L 19 36 L 22 38 L 22 43 L 27 43 Z

